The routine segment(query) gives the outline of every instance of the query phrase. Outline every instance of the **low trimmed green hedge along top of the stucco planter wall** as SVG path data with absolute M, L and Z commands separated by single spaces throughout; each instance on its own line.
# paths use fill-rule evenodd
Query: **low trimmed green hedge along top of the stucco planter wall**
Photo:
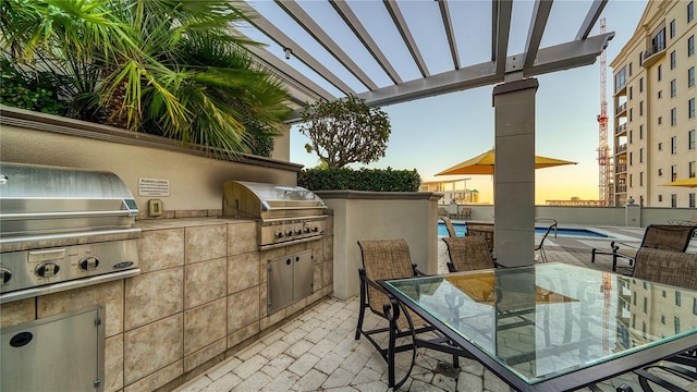
M 415 170 L 388 169 L 306 169 L 297 184 L 310 191 L 417 192 L 421 183 Z

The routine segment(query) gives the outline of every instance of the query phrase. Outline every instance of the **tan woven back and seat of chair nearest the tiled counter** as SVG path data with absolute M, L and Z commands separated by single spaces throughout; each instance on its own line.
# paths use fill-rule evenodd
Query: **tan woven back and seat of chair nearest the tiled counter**
M 413 278 L 414 268 L 409 257 L 409 247 L 405 240 L 372 240 L 358 241 L 363 256 L 363 267 L 366 278 L 377 282 L 379 280 Z M 382 314 L 382 306 L 388 304 L 387 295 L 375 287 L 368 286 L 368 305 L 372 311 Z M 404 318 L 398 322 L 402 324 Z M 402 327 L 407 324 L 402 324 Z

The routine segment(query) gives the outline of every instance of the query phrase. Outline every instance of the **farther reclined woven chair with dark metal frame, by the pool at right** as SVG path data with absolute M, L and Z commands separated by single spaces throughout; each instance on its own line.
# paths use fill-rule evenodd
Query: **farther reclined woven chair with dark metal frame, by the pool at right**
M 590 262 L 596 262 L 596 255 L 611 255 L 612 271 L 616 271 L 617 259 L 620 258 L 627 259 L 629 261 L 629 266 L 634 266 L 634 259 L 640 248 L 685 252 L 695 230 L 697 230 L 697 226 L 650 224 L 646 228 L 641 245 L 638 248 L 619 241 L 613 241 L 610 243 L 610 250 L 592 248 Z

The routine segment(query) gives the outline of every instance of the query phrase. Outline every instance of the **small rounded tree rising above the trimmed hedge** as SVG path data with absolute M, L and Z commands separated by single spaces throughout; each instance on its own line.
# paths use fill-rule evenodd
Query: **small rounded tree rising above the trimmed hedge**
M 355 96 L 307 106 L 303 123 L 299 132 L 310 139 L 307 152 L 315 151 L 329 169 L 384 157 L 391 132 L 388 114 Z

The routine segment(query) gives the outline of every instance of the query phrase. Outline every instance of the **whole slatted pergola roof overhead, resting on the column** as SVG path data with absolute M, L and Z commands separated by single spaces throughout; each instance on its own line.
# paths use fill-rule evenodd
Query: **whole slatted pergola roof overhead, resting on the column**
M 583 19 L 575 40 L 540 49 L 540 44 L 551 14 L 553 0 L 536 0 L 528 30 L 526 32 L 527 40 L 523 53 L 509 56 L 508 51 L 511 49 L 509 47 L 509 38 L 511 34 L 513 34 L 511 30 L 513 0 L 491 0 L 491 59 L 490 61 L 484 61 L 475 65 L 462 66 L 454 33 L 454 28 L 457 27 L 456 19 L 453 19 L 451 14 L 452 5 L 448 3 L 449 0 L 437 0 L 452 57 L 452 68 L 447 66 L 444 72 L 430 74 L 412 34 L 412 30 L 417 32 L 417 28 L 428 29 L 429 26 L 419 25 L 418 21 L 412 21 L 413 25 L 407 24 L 398 5 L 399 1 L 404 0 L 382 0 L 382 5 L 384 5 L 387 10 L 386 14 L 381 12 L 379 14 L 375 12 L 374 14 L 357 12 L 365 11 L 357 8 L 364 7 L 364 4 L 375 4 L 375 2 L 355 0 L 347 3 L 346 0 L 316 0 L 326 1 L 332 7 L 341 21 L 346 24 L 346 27 L 353 32 L 357 40 L 375 60 L 375 63 L 370 63 L 370 65 L 377 63 L 380 69 L 384 71 L 384 75 L 393 83 L 392 85 L 380 87 L 376 85 L 369 74 L 366 74 L 369 72 L 369 66 L 362 63 L 362 60 L 370 60 L 370 58 L 359 59 L 346 54 L 338 44 L 342 41 L 339 39 L 340 37 L 332 36 L 329 30 L 323 30 L 319 24 L 313 20 L 313 16 L 305 12 L 296 1 L 299 0 L 292 0 L 290 2 L 276 0 L 274 3 L 270 4 L 278 4 L 279 7 L 273 7 L 273 9 L 283 16 L 290 16 L 290 23 L 295 23 L 297 26 L 273 25 L 265 16 L 259 15 L 258 12 L 253 14 L 252 20 L 252 24 L 257 29 L 269 36 L 282 48 L 291 48 L 292 54 L 317 74 L 311 76 L 305 75 L 304 72 L 293 68 L 293 62 L 283 61 L 277 56 L 264 52 L 261 48 L 255 51 L 255 54 L 265 66 L 268 66 L 272 72 L 278 73 L 281 78 L 288 82 L 290 91 L 294 97 L 293 102 L 298 106 L 298 108 L 294 108 L 294 118 L 290 120 L 291 122 L 298 121 L 299 113 L 302 112 L 301 102 L 313 103 L 318 99 L 337 99 L 339 97 L 334 97 L 334 94 L 339 91 L 345 95 L 356 95 L 365 99 L 369 106 L 384 106 L 492 85 L 505 82 L 509 75 L 514 75 L 514 77 L 531 77 L 549 72 L 592 64 L 606 48 L 608 41 L 614 37 L 614 33 L 589 36 L 608 2 L 608 0 L 594 0 L 588 13 Z M 257 15 L 256 17 L 254 16 L 255 14 Z M 387 50 L 388 48 L 381 49 L 375 40 L 378 35 L 384 34 L 384 29 L 368 30 L 362 21 L 358 20 L 357 14 L 366 19 L 364 22 L 367 25 L 371 25 L 370 23 L 375 25 L 376 17 L 378 23 L 386 24 L 391 22 L 401 35 L 411 58 L 407 57 L 404 51 L 396 53 L 396 56 L 395 53 L 389 56 L 388 53 L 390 51 Z M 368 17 L 371 19 L 368 20 Z M 282 29 L 292 30 L 298 26 L 307 32 L 308 37 L 311 39 L 310 42 L 301 44 L 308 45 L 308 47 L 316 47 L 314 44 L 317 44 L 317 47 L 321 46 L 338 60 L 337 65 L 326 65 L 321 63 L 308 53 L 301 44 L 293 41 L 282 32 Z M 343 28 L 343 26 L 340 27 Z M 487 37 L 478 39 L 486 40 Z M 401 59 L 400 61 L 402 62 L 406 61 L 406 63 L 399 63 L 398 58 Z M 403 76 L 399 70 L 408 73 L 405 70 L 413 64 L 412 60 L 414 64 L 416 64 L 420 75 L 417 72 L 414 73 L 414 76 L 403 81 Z M 334 64 L 333 59 L 331 64 Z M 297 65 L 297 63 L 295 63 L 295 65 Z M 341 69 L 328 69 L 330 66 L 340 66 Z M 380 69 L 374 68 L 376 72 L 380 72 Z M 356 81 L 363 83 L 368 90 L 360 94 L 355 93 L 352 87 L 337 76 L 337 74 L 344 73 L 350 77 L 351 75 L 355 76 Z M 315 76 L 323 78 L 328 84 L 323 84 L 323 81 L 318 82 Z M 376 74 L 374 73 L 372 76 L 376 76 Z M 383 75 L 380 74 L 380 77 L 382 76 Z M 313 79 L 315 79 L 315 82 Z M 376 81 L 377 79 L 379 78 L 376 78 Z M 350 82 L 354 82 L 354 79 L 352 78 Z M 384 78 L 384 82 L 388 82 L 388 79 Z M 320 85 L 329 86 L 329 84 L 337 87 L 338 91 L 332 94 L 320 87 Z

